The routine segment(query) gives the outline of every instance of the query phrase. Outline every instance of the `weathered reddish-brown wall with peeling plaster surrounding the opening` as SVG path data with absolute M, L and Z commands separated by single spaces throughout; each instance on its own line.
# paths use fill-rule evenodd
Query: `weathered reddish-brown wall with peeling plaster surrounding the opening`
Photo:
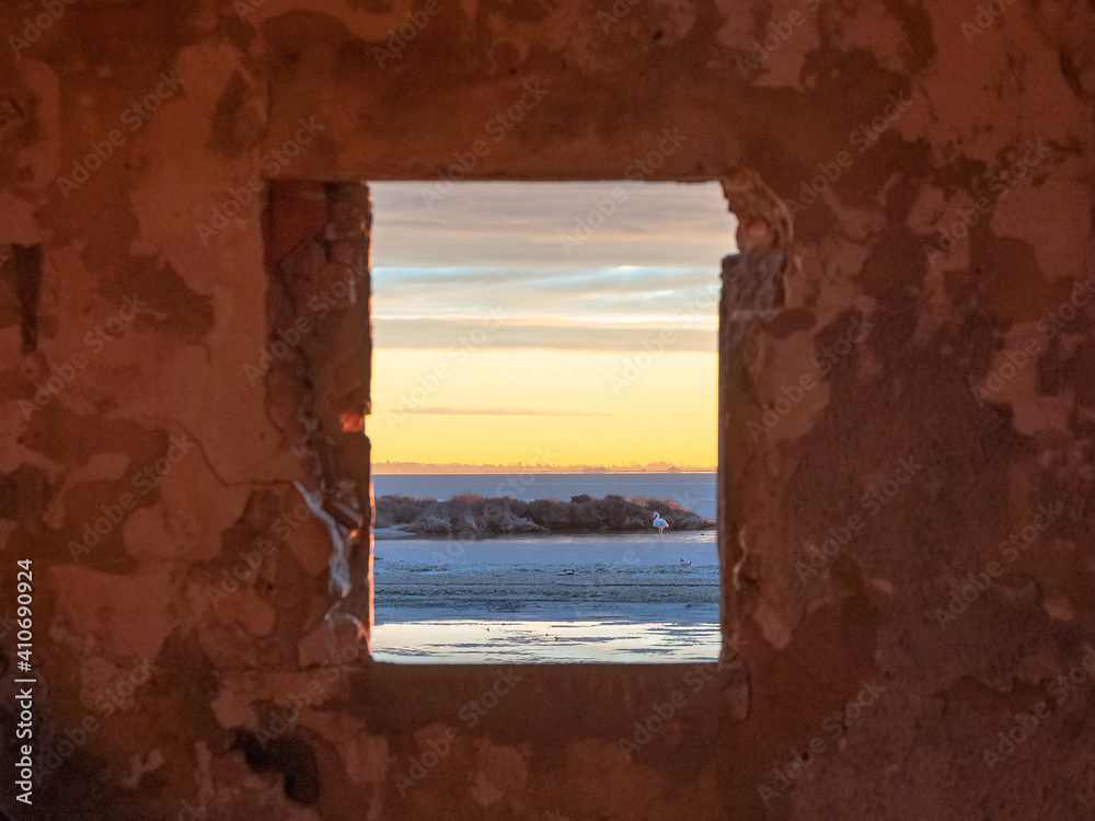
M 1090 4 L 0 8 L 13 818 L 1095 817 Z M 360 181 L 622 176 L 740 218 L 724 663 L 371 663 Z

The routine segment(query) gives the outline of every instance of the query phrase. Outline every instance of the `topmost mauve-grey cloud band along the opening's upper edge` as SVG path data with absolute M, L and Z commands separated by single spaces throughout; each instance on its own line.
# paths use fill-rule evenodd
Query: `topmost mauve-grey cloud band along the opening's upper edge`
M 377 265 L 452 266 L 459 261 L 468 266 L 717 270 L 722 257 L 737 250 L 737 221 L 716 183 L 460 183 L 433 207 L 422 195 L 426 187 L 370 184 Z M 585 238 L 590 224 L 596 229 L 568 254 L 561 238 L 579 239 L 579 232 Z

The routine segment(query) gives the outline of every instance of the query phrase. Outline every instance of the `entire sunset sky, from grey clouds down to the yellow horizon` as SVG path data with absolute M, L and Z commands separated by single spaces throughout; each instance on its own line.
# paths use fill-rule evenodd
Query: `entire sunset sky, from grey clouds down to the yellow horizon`
M 370 183 L 372 461 L 716 458 L 716 183 Z

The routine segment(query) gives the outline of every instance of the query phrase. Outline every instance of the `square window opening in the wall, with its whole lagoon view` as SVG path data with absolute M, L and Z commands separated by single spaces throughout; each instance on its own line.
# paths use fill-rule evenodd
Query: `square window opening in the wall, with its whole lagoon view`
M 721 186 L 369 192 L 373 659 L 717 659 Z

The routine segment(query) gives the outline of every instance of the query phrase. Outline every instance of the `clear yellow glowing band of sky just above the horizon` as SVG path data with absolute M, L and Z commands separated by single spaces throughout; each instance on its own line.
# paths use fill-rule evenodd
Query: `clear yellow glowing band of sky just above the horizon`
M 717 461 L 714 352 L 387 349 L 373 357 L 366 432 L 374 463 Z

